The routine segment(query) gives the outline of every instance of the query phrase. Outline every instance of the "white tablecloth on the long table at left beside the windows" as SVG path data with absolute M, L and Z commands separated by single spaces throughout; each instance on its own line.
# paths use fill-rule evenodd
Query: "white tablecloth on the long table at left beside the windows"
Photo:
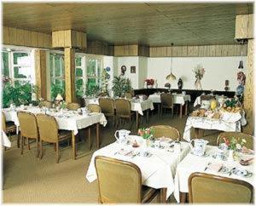
M 27 110 L 16 108 L 16 111 L 3 109 L 3 112 L 6 116 L 6 121 L 14 122 L 17 128 L 20 126 L 17 111 L 32 112 L 33 114 L 43 113 L 38 107 L 28 108 Z M 74 114 L 72 111 L 69 111 L 64 112 L 63 117 L 59 117 L 60 113 L 56 112 L 49 112 L 48 114 L 55 117 L 59 129 L 72 130 L 74 134 L 78 134 L 79 129 L 87 128 L 94 123 L 101 123 L 103 126 L 106 126 L 107 124 L 107 119 L 103 113 L 90 113 L 89 116 Z

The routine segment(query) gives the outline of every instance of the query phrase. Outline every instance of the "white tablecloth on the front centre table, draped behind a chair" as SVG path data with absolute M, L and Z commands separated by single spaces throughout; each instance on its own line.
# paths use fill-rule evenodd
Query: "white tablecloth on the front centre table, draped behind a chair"
M 86 179 L 92 182 L 97 178 L 95 168 L 96 156 L 113 157 L 135 163 L 139 169 L 141 169 L 143 185 L 151 186 L 156 189 L 167 188 L 167 199 L 174 191 L 173 178 L 176 173 L 177 163 L 179 163 L 189 152 L 188 143 L 181 142 L 181 146 L 182 152 L 179 154 L 148 147 L 148 151 L 153 154 L 152 157 L 126 157 L 123 155 L 114 154 L 121 148 L 118 143 L 114 142 L 113 144 L 102 147 L 102 149 L 94 152 L 87 170 Z

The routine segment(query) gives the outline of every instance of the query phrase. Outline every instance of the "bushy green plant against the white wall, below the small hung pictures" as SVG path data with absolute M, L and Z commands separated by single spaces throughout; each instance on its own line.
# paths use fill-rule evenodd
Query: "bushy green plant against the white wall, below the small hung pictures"
M 131 92 L 131 80 L 121 76 L 113 77 L 112 89 L 114 96 L 123 96 L 126 92 Z

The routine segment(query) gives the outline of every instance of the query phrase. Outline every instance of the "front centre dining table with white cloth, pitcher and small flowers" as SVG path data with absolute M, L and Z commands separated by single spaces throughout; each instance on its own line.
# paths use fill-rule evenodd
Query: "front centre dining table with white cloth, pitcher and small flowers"
M 169 142 L 152 141 L 150 146 L 141 144 L 132 147 L 132 140 L 143 142 L 143 138 L 130 135 L 126 143 L 119 140 L 93 153 L 90 165 L 87 169 L 86 179 L 91 183 L 97 179 L 95 158 L 97 156 L 112 157 L 128 161 L 138 166 L 142 173 L 142 184 L 155 189 L 160 189 L 160 201 L 166 203 L 168 197 L 174 191 L 174 175 L 177 164 L 189 153 L 189 143 L 181 141 L 181 150 L 174 151 L 175 144 L 171 139 Z M 130 142 L 130 143 L 129 143 Z

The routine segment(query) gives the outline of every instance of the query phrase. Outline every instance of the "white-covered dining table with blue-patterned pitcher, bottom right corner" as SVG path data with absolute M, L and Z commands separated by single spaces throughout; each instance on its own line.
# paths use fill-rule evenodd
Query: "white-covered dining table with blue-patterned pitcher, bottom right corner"
M 253 164 L 242 166 L 239 160 L 229 160 L 229 158 L 225 156 L 220 157 L 218 156 L 219 150 L 218 146 L 207 146 L 205 155 L 196 156 L 193 152 L 189 152 L 188 155 L 178 163 L 174 178 L 174 197 L 177 203 L 184 203 L 186 201 L 186 193 L 189 192 L 189 175 L 195 172 L 244 180 L 253 187 L 255 186 Z M 242 159 L 254 157 L 253 154 L 244 153 L 240 153 L 240 156 Z M 238 172 L 245 170 L 247 170 L 247 175 L 241 175 L 242 173 Z

